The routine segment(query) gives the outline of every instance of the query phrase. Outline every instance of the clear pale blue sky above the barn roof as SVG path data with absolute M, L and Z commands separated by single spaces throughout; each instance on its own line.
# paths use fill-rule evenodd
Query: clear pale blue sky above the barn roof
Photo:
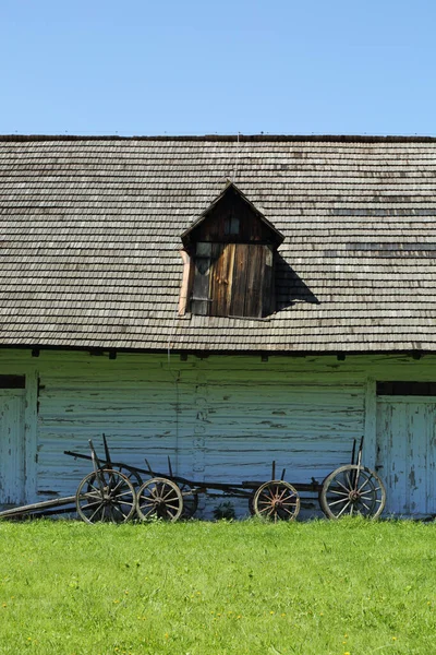
M 434 0 L 2 0 L 0 133 L 436 135 Z

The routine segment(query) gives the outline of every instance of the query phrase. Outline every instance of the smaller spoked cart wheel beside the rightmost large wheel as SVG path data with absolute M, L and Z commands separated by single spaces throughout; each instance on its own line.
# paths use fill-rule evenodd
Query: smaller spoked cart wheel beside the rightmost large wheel
M 277 521 L 293 521 L 300 511 L 300 497 L 289 483 L 270 480 L 262 485 L 253 498 L 256 516 Z

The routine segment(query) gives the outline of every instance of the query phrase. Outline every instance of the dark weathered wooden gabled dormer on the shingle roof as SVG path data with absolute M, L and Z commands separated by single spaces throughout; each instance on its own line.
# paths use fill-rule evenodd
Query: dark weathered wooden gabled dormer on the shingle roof
M 182 235 L 192 270 L 189 309 L 209 317 L 275 311 L 274 253 L 282 235 L 232 183 Z

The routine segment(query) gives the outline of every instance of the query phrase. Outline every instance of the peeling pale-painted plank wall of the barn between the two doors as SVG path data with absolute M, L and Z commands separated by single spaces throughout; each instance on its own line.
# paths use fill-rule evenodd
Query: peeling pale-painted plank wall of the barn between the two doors
M 362 434 L 373 466 L 375 380 L 434 380 L 435 364 L 0 352 L 2 373 L 26 374 L 28 500 L 74 492 L 90 466 L 63 451 L 87 452 L 88 439 L 99 446 L 102 432 L 114 458 L 142 466 L 147 456 L 165 472 L 170 455 L 174 472 L 198 480 L 266 480 L 272 460 L 289 481 L 322 480 L 349 461 Z

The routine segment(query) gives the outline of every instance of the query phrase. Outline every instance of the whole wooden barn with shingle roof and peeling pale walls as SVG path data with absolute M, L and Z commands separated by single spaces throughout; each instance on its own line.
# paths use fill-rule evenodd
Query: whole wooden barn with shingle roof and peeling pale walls
M 364 436 L 385 514 L 436 514 L 436 140 L 2 136 L 0 215 L 1 507 L 102 433 L 294 483 Z

